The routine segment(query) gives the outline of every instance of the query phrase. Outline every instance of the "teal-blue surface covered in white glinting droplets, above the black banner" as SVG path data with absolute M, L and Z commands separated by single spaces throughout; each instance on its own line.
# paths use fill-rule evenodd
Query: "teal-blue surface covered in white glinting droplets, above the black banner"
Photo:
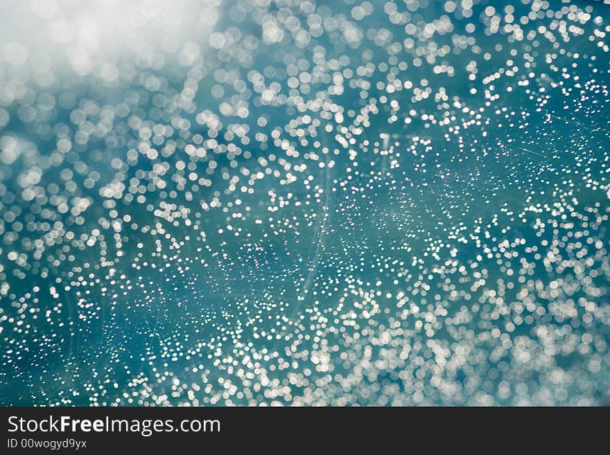
M 608 6 L 64 3 L 2 6 L 0 402 L 610 400 Z

